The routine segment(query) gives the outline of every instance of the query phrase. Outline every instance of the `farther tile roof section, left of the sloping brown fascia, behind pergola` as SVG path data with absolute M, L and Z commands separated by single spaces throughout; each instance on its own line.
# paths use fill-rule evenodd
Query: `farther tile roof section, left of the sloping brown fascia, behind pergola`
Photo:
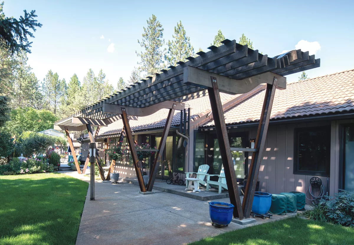
M 223 103 L 226 103 L 236 98 L 237 96 L 239 95 L 229 95 L 220 93 L 220 97 Z M 208 96 L 195 98 L 184 103 L 186 108 L 190 107 L 190 117 L 192 118 L 192 120 L 195 120 L 199 114 L 203 112 L 207 113 L 211 110 Z M 165 126 L 168 113 L 169 109 L 161 109 L 150 116 L 140 116 L 138 120 L 130 120 L 130 127 L 133 132 L 162 129 Z M 172 127 L 179 126 L 180 114 L 180 111 L 175 111 L 171 124 Z M 115 121 L 107 127 L 101 127 L 98 137 L 118 135 L 121 132 L 122 128 L 122 120 Z M 86 135 L 85 138 L 86 137 L 88 137 L 88 135 Z

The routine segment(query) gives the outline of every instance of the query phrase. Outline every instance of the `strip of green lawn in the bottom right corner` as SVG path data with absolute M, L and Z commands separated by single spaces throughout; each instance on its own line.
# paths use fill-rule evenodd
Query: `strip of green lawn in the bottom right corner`
M 189 245 L 353 245 L 354 228 L 297 217 L 205 238 Z

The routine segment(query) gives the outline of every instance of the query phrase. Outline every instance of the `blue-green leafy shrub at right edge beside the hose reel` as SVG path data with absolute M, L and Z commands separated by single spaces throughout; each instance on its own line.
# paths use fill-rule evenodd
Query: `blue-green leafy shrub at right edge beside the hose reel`
M 313 209 L 305 211 L 302 216 L 354 227 L 354 194 L 345 190 L 339 191 L 334 197 L 324 196 L 325 199 Z

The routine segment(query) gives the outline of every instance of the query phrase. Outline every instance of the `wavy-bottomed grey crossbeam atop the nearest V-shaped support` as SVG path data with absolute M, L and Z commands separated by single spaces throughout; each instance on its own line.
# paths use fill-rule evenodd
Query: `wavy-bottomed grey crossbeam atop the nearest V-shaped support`
M 218 80 L 218 89 L 228 94 L 244 94 L 256 88 L 256 86 L 258 86 L 259 84 L 273 84 L 274 76 L 277 76 L 279 78 L 278 87 L 282 89 L 286 88 L 286 77 L 279 76 L 272 72 L 263 73 L 242 80 L 236 80 L 212 72 L 200 70 L 192 66 L 184 68 L 183 82 L 185 84 L 191 84 L 194 86 L 199 86 L 201 88 L 210 88 L 211 84 L 209 83 L 208 78 L 210 78 L 211 76 L 215 77 Z

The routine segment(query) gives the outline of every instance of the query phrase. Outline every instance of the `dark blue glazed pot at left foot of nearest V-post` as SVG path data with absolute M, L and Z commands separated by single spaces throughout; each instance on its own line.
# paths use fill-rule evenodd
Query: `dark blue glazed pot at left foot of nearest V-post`
M 212 223 L 227 226 L 232 220 L 234 205 L 224 202 L 210 202 L 209 214 Z

